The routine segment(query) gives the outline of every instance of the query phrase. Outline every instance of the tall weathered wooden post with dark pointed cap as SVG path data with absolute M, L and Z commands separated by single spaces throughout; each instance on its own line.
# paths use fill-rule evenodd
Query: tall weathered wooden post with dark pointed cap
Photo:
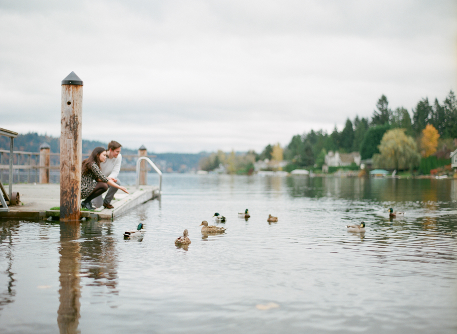
M 81 210 L 83 82 L 71 72 L 62 80 L 60 105 L 60 221 L 76 221 Z

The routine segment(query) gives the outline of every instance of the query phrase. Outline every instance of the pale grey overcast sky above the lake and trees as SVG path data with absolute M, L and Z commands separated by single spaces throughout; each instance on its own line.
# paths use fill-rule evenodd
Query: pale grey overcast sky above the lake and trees
M 0 0 L 0 127 L 150 152 L 257 152 L 457 87 L 455 1 Z

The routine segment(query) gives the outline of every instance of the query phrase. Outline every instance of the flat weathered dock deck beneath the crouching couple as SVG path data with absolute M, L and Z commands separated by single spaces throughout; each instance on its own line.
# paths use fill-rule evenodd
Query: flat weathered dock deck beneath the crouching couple
M 113 209 L 103 206 L 94 211 L 81 211 L 81 217 L 92 219 L 114 219 L 128 210 L 159 197 L 159 188 L 153 185 L 126 187 L 129 194 L 118 191 L 111 204 Z M 0 218 L 41 218 L 58 217 L 59 210 L 51 208 L 60 205 L 60 185 L 51 183 L 13 184 L 13 191 L 19 192 L 21 203 L 10 206 L 10 212 L 0 212 Z

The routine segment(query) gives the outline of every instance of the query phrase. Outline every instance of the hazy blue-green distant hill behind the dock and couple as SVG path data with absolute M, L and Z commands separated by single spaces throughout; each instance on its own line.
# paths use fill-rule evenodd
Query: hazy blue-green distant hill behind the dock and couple
M 25 152 L 40 152 L 40 146 L 44 142 L 48 143 L 51 146 L 51 152 L 58 153 L 60 152 L 60 138 L 52 137 L 47 135 L 39 135 L 36 132 L 29 132 L 27 134 L 19 134 L 14 138 L 14 150 L 15 151 L 25 151 Z M 95 141 L 95 140 L 82 140 L 82 152 L 90 153 L 97 146 L 108 147 L 108 143 Z M 0 136 L 0 149 L 9 150 L 10 149 L 10 138 L 6 136 Z M 123 155 L 137 155 L 138 150 L 127 149 L 122 147 Z M 154 163 L 162 170 L 163 172 L 189 172 L 192 170 L 197 170 L 199 167 L 199 161 L 203 157 L 209 156 L 207 152 L 201 152 L 198 154 L 190 153 L 158 153 L 148 152 L 148 155 L 155 155 L 153 159 Z M 122 159 L 124 164 L 132 164 L 133 161 L 128 161 L 127 159 Z

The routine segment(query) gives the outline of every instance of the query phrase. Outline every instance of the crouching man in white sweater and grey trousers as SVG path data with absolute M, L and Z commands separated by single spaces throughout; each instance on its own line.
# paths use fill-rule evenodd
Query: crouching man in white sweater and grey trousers
M 111 179 L 113 182 L 121 185 L 118 175 L 120 171 L 120 165 L 122 162 L 122 155 L 120 154 L 122 145 L 119 144 L 117 141 L 110 141 L 108 144 L 108 153 L 106 155 L 105 162 L 100 164 L 100 169 L 102 173 Z M 117 188 L 109 187 L 108 192 L 106 193 L 105 199 L 103 199 L 102 195 L 95 197 L 92 200 L 93 206 L 99 208 L 102 205 L 107 209 L 112 209 L 113 206 L 111 205 L 111 201 L 114 198 L 114 194 L 116 194 Z

